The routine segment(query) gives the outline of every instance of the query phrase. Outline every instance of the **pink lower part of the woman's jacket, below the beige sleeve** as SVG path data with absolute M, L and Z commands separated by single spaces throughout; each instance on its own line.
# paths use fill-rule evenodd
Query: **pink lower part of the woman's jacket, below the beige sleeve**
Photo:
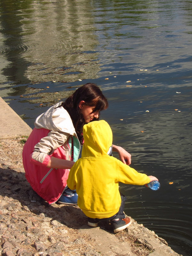
M 52 155 L 45 157 L 43 163 L 39 163 L 31 158 L 34 146 L 41 138 L 47 136 L 49 132 L 50 130 L 44 128 L 33 129 L 23 148 L 23 166 L 26 173 L 26 179 L 33 190 L 35 190 L 36 193 L 49 204 L 52 204 L 55 203 L 63 193 L 67 185 L 69 170 L 50 169 L 46 167 L 46 165 L 51 156 L 66 159 L 66 148 L 61 146 L 55 149 Z

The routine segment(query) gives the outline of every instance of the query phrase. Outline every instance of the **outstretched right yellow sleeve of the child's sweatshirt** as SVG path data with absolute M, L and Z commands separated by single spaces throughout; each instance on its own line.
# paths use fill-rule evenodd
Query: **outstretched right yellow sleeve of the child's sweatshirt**
M 137 172 L 135 169 L 119 161 L 118 181 L 125 184 L 145 185 L 150 182 L 150 178 L 144 174 Z

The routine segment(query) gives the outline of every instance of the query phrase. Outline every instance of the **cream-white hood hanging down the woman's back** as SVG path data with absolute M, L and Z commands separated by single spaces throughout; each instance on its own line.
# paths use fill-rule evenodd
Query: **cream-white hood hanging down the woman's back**
M 62 102 L 49 108 L 36 118 L 35 128 L 44 128 L 50 131 L 66 132 L 76 135 L 75 128 L 69 113 L 61 106 Z

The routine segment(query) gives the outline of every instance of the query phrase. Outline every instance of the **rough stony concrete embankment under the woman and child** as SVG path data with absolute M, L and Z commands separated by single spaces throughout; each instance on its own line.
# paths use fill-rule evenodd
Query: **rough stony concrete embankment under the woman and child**
M 48 205 L 30 187 L 21 136 L 31 128 L 0 98 L 0 256 L 179 256 L 153 231 L 132 220 L 124 231 L 89 228 L 78 206 Z

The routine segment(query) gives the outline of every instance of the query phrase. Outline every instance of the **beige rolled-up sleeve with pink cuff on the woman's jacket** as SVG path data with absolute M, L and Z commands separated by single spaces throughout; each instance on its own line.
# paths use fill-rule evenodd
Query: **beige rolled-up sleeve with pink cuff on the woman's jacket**
M 50 131 L 46 137 L 42 138 L 34 147 L 31 155 L 31 162 L 38 165 L 47 166 L 50 156 L 56 148 L 62 146 L 68 140 L 68 133 Z

